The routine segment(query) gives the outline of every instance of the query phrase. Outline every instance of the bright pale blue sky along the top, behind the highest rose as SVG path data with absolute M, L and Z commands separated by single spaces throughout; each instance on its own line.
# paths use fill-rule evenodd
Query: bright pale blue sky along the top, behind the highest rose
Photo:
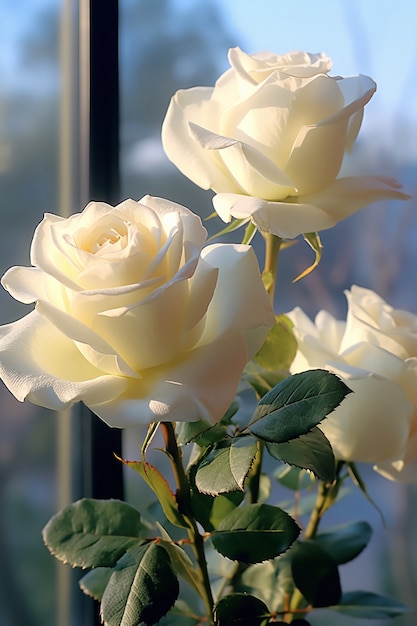
M 120 0 L 123 2 L 123 0 Z M 204 0 L 176 0 L 178 7 Z M 417 2 L 415 0 L 213 0 L 246 52 L 326 52 L 335 74 L 368 74 L 378 91 L 366 107 L 361 133 L 417 159 Z M 18 41 L 33 15 L 61 0 L 2 0 L 0 95 L 16 84 Z M 149 0 L 157 7 L 158 0 Z M 22 19 L 22 15 L 25 19 Z M 227 59 L 224 60 L 224 69 Z M 32 77 L 33 78 L 33 77 Z M 36 76 L 47 83 L 49 76 Z M 30 77 L 21 76 L 28 81 Z M 401 139 L 398 119 L 403 120 Z

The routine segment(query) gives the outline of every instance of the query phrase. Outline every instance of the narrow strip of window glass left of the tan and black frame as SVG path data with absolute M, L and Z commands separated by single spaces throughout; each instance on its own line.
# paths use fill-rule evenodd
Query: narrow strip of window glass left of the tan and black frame
M 0 265 L 29 265 L 45 211 L 58 206 L 59 2 L 2 4 Z M 0 290 L 1 323 L 25 315 Z M 56 626 L 56 564 L 41 530 L 56 510 L 57 416 L 0 387 L 0 623 Z

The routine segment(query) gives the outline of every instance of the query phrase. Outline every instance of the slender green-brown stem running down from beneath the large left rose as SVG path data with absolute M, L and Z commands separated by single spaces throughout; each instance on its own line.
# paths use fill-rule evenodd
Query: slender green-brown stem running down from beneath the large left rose
M 209 624 L 214 626 L 213 621 L 213 594 L 211 591 L 210 577 L 207 568 L 206 554 L 204 551 L 204 538 L 198 530 L 191 507 L 190 484 L 184 470 L 182 453 L 178 447 L 174 426 L 171 422 L 161 422 L 162 434 L 165 441 L 165 449 L 171 460 L 172 469 L 177 485 L 177 501 L 182 515 L 186 518 L 189 528 L 188 536 L 200 569 L 204 589 L 203 602 L 206 607 Z

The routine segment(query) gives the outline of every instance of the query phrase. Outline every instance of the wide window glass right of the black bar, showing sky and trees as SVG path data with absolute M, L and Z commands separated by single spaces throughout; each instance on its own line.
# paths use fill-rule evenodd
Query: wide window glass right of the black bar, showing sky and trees
M 174 92 L 213 85 L 228 67 L 227 49 L 234 46 L 248 53 L 324 51 L 334 61 L 333 74 L 374 78 L 378 90 L 366 107 L 353 158 L 343 166 L 345 175 L 392 176 L 416 195 L 417 5 L 402 3 L 399 11 L 389 0 L 164 0 L 158 11 L 154 6 L 146 0 L 121 0 L 122 197 L 139 199 L 149 193 L 183 203 L 202 217 L 212 212 L 210 192 L 190 183 L 164 156 L 160 130 Z M 343 290 L 359 284 L 395 307 L 416 312 L 416 216 L 415 201 L 386 201 L 359 211 L 322 233 L 320 267 L 294 284 L 313 261 L 311 250 L 298 241 L 280 259 L 278 310 L 299 305 L 311 316 L 325 308 L 344 317 Z M 221 223 L 212 220 L 206 226 L 216 232 Z M 390 483 L 370 469 L 365 475 L 389 532 L 359 490 L 340 505 L 334 522 L 360 517 L 374 528 L 370 549 L 343 569 L 345 587 L 391 594 L 415 609 L 417 541 L 409 520 L 415 516 L 416 489 Z M 138 498 L 141 487 L 133 480 L 132 485 L 132 497 Z M 338 620 L 342 624 L 343 618 Z M 357 620 L 358 626 L 365 623 Z M 396 623 L 414 622 L 399 617 Z

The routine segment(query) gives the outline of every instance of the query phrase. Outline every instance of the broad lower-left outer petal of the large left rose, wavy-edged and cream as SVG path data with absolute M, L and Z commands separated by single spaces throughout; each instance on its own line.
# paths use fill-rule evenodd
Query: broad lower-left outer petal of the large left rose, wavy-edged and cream
M 127 386 L 93 367 L 36 311 L 0 327 L 0 354 L 0 376 L 13 395 L 48 409 L 114 399 Z

